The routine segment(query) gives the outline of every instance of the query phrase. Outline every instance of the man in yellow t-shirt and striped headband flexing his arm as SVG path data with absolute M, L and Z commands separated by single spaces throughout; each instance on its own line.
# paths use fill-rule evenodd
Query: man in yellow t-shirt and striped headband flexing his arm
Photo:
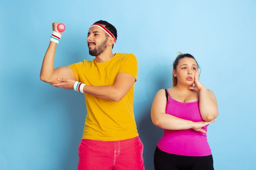
M 92 61 L 54 69 L 54 53 L 62 33 L 53 23 L 40 79 L 85 94 L 87 115 L 79 144 L 78 170 L 144 170 L 133 113 L 138 63 L 133 54 L 112 53 L 117 30 L 106 21 L 90 26 L 87 38 Z

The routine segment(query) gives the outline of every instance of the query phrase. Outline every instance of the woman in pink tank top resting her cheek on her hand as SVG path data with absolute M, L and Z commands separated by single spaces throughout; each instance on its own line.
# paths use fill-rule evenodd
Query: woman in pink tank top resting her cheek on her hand
M 218 106 L 214 93 L 198 77 L 193 55 L 180 53 L 173 62 L 173 87 L 155 95 L 151 119 L 164 129 L 155 150 L 155 170 L 213 170 L 206 134 Z

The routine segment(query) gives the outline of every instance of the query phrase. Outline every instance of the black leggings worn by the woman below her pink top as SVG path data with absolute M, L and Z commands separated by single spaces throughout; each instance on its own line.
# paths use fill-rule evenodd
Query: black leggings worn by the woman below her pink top
M 166 153 L 155 149 L 155 170 L 214 170 L 212 155 L 192 157 Z

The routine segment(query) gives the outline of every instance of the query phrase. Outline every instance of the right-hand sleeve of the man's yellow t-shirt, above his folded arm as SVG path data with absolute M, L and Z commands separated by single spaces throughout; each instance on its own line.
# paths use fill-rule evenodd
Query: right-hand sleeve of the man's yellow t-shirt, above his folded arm
M 118 73 L 128 73 L 137 80 L 138 60 L 134 54 L 128 54 L 124 57 Z

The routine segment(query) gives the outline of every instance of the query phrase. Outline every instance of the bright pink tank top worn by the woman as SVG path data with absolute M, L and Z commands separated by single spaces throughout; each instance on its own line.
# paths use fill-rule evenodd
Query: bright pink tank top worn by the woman
M 168 91 L 167 91 L 168 92 Z M 191 121 L 204 121 L 200 115 L 199 100 L 183 103 L 171 98 L 166 104 L 166 114 Z M 208 126 L 208 125 L 207 125 Z M 207 126 L 203 127 L 207 131 Z M 157 143 L 157 147 L 167 153 L 184 156 L 208 156 L 211 149 L 207 142 L 207 135 L 193 129 L 166 130 Z

